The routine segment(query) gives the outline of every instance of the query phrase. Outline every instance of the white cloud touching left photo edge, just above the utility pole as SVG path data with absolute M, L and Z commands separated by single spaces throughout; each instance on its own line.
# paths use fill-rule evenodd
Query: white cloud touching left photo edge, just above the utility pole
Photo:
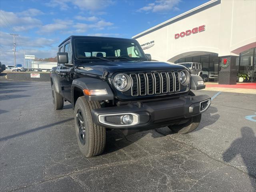
M 13 12 L 0 10 L 0 28 L 6 28 L 9 31 L 20 31 L 35 28 L 41 24 L 42 22 L 36 18 L 30 16 L 22 17 Z

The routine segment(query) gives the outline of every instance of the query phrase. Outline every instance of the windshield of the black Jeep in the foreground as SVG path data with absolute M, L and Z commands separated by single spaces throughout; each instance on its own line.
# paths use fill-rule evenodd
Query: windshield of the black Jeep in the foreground
M 76 38 L 74 51 L 80 60 L 147 60 L 138 42 L 132 40 Z

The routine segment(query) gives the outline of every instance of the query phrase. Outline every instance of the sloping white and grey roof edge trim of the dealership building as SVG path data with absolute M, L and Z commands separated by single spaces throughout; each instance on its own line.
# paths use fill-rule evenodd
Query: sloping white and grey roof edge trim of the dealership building
M 169 20 L 167 20 L 167 21 L 165 21 L 165 22 L 162 22 L 162 23 L 160 23 L 160 24 L 158 24 L 158 25 L 156 25 L 156 26 L 154 26 L 154 27 L 152 27 L 152 28 L 149 28 L 148 30 L 143 31 L 143 32 L 141 32 L 141 33 L 139 33 L 139 34 L 133 36 L 132 38 L 133 38 L 133 39 L 136 39 L 136 38 L 142 37 L 142 36 L 144 36 L 144 35 L 146 35 L 146 34 L 149 34 L 149 33 L 153 32 L 153 31 L 155 31 L 155 30 L 158 30 L 158 29 L 160 29 L 160 28 L 163 28 L 163 27 L 165 27 L 165 26 L 167 26 L 167 25 L 169 25 L 169 24 L 172 24 L 172 23 L 174 23 L 174 22 L 177 22 L 177 21 L 179 21 L 179 20 L 182 20 L 182 19 L 184 19 L 184 18 L 186 18 L 186 17 L 189 17 L 189 16 L 191 16 L 191 15 L 194 15 L 194 14 L 196 14 L 196 13 L 198 13 L 198 12 L 201 12 L 201 11 L 203 11 L 203 10 L 206 10 L 206 9 L 210 8 L 210 7 L 216 6 L 216 5 L 218 5 L 218 4 L 220 4 L 220 0 L 210 0 L 210 1 L 208 1 L 208 2 L 206 2 L 206 3 L 204 3 L 204 4 L 200 5 L 200 6 L 198 6 L 198 7 L 196 7 L 196 8 L 193 8 L 193 9 L 191 9 L 191 10 L 188 10 L 187 12 L 184 12 L 184 13 L 182 13 L 182 14 L 176 16 L 176 17 L 173 17 L 173 18 L 171 18 L 171 19 L 169 19 Z

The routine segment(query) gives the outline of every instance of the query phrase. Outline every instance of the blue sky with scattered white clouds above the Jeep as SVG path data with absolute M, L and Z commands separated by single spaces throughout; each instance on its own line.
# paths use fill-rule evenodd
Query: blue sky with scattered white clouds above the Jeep
M 55 57 L 70 35 L 132 38 L 208 0 L 1 0 L 0 61 L 16 64 L 26 54 Z

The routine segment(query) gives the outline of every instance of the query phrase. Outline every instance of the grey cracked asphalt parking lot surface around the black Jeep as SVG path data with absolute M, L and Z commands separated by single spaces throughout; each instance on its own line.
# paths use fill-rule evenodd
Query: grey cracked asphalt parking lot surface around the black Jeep
M 1 79 L 0 191 L 256 191 L 255 95 L 195 93 L 214 99 L 194 132 L 108 132 L 104 154 L 86 159 L 49 82 Z

